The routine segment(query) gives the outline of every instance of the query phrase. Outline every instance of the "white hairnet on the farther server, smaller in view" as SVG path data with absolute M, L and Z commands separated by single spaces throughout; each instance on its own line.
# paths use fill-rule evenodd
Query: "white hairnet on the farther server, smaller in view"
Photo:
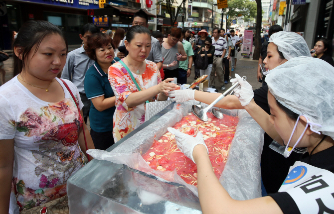
M 297 33 L 286 31 L 273 33 L 269 38 L 269 42 L 277 45 L 278 50 L 283 53 L 284 58 L 287 60 L 299 56 L 311 57 L 306 41 Z

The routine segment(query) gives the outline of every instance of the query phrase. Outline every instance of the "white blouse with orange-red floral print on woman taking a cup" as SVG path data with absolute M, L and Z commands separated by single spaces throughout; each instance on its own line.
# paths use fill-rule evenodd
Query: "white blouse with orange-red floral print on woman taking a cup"
M 141 90 L 148 89 L 162 82 L 156 63 L 146 60 L 143 75 L 132 73 Z M 108 78 L 116 96 L 113 136 L 115 142 L 135 130 L 145 121 L 145 103 L 129 108 L 125 100 L 131 93 L 139 92 L 128 71 L 120 62 L 109 67 Z M 149 100 L 155 101 L 155 98 Z

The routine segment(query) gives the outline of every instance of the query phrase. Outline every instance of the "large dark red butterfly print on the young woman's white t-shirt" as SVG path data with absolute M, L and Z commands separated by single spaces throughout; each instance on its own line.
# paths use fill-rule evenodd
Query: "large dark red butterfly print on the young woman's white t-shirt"
M 79 120 L 74 119 L 73 122 L 53 127 L 42 137 L 42 140 L 61 141 L 64 146 L 73 146 L 78 141 L 78 132 L 82 123 L 81 114 L 79 114 Z

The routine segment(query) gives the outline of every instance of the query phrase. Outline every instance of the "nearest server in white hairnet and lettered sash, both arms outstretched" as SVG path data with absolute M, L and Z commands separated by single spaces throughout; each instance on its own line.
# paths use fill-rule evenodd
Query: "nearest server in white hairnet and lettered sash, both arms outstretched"
M 203 213 L 334 213 L 334 68 L 317 58 L 296 57 L 270 71 L 266 81 L 271 115 L 255 104 L 247 81 L 234 81 L 240 84 L 236 94 L 241 105 L 272 138 L 281 138 L 285 157 L 297 147 L 306 147 L 310 156 L 296 161 L 278 193 L 237 201 L 212 171 L 202 134 L 192 137 L 168 128 L 178 148 L 197 164 Z

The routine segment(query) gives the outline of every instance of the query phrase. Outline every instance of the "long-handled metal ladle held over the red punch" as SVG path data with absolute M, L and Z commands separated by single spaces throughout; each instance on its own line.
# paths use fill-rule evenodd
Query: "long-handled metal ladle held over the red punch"
M 246 77 L 242 77 L 244 80 L 246 80 Z M 215 101 L 213 101 L 208 107 L 203 108 L 200 105 L 193 105 L 191 107 L 191 111 L 192 113 L 198 118 L 201 119 L 203 121 L 208 121 L 208 117 L 206 115 L 207 111 L 213 107 L 214 105 L 216 105 L 216 103 L 218 103 L 221 99 L 223 99 L 226 95 L 228 95 L 231 91 L 233 91 L 233 89 L 235 87 L 239 86 L 239 82 L 236 82 L 234 85 L 232 85 L 229 89 L 227 89 L 222 95 L 220 95 Z M 217 110 L 218 111 L 218 110 Z M 213 112 L 212 112 L 213 113 Z M 220 115 L 221 114 L 221 115 Z M 217 116 L 220 116 L 221 118 L 223 117 L 222 113 L 219 111 L 216 114 Z M 216 116 L 214 115 L 214 116 Z M 216 116 L 216 117 L 217 117 Z M 219 117 L 217 117 L 219 118 Z

